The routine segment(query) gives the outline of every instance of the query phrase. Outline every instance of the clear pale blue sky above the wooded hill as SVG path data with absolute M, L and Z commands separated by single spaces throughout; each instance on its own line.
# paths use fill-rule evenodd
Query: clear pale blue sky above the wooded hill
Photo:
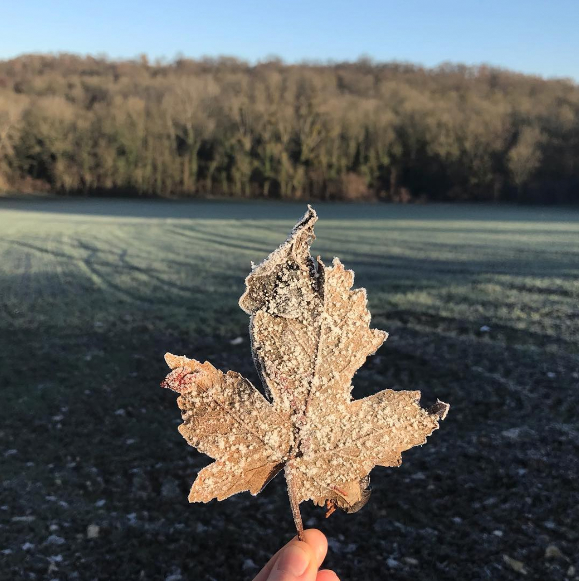
M 172 59 L 490 63 L 579 80 L 579 0 L 0 0 L 0 58 L 26 52 Z

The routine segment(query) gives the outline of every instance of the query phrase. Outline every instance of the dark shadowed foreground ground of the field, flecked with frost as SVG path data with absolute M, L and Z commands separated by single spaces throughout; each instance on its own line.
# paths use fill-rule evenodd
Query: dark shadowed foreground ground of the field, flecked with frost
M 556 541 L 572 554 L 577 540 L 577 360 L 544 354 L 536 365 L 516 345 L 416 329 L 390 315 L 393 340 L 355 376 L 357 396 L 420 389 L 423 404 L 439 397 L 451 413 L 428 446 L 404 453 L 400 469 L 373 472 L 362 511 L 325 521 L 321 508 L 303 505 L 307 526 L 330 538 L 328 566 L 355 579 L 363 560 L 379 578 L 387 558 L 407 558 L 421 579 L 509 579 L 501 555 L 525 548 L 542 578 L 562 574 L 564 563 L 545 569 L 542 552 Z M 208 459 L 177 432 L 176 396 L 159 388 L 162 353 L 208 358 L 256 381 L 247 345 L 174 331 L 171 320 L 71 325 L 52 338 L 15 324 L 2 335 L 2 431 L 16 450 L 5 459 L 3 503 L 18 517 L 3 540 L 38 547 L 24 554 L 23 571 L 44 575 L 55 535 L 59 570 L 82 569 L 81 578 L 251 578 L 293 535 L 281 478 L 258 497 L 186 503 Z M 98 537 L 88 539 L 94 524 Z M 402 571 L 390 578 L 405 578 Z

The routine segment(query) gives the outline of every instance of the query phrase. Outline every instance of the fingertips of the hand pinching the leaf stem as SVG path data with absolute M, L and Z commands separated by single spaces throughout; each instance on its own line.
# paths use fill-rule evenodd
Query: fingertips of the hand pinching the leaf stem
M 328 553 L 328 540 L 317 529 L 304 530 L 304 540 L 294 537 L 268 561 L 253 581 L 340 581 L 329 569 L 319 571 Z

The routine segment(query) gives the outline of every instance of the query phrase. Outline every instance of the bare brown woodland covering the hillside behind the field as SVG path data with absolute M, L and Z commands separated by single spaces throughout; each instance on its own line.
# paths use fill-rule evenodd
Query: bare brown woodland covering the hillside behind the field
M 0 189 L 579 201 L 579 85 L 489 67 L 0 62 Z

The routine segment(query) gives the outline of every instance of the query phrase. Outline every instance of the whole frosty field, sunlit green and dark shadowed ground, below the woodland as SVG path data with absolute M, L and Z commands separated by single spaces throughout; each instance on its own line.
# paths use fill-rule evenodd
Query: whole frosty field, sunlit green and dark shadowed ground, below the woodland
M 373 325 L 390 332 L 355 393 L 421 389 L 426 404 L 452 406 L 429 446 L 372 473 L 364 510 L 324 522 L 304 506 L 335 541 L 330 565 L 346 578 L 390 559 L 393 579 L 433 567 L 438 578 L 487 568 L 502 579 L 507 554 L 537 578 L 561 578 L 567 565 L 542 555 L 577 540 L 579 211 L 315 208 L 312 252 L 353 268 Z M 280 483 L 257 498 L 186 504 L 205 459 L 179 436 L 174 397 L 158 385 L 166 351 L 257 381 L 237 306 L 243 279 L 304 210 L 0 200 L 0 549 L 12 551 L 2 555 L 12 578 L 43 578 L 51 562 L 55 578 L 251 576 L 250 561 L 292 533 Z M 10 520 L 22 516 L 34 519 Z M 99 536 L 87 539 L 91 524 Z M 64 543 L 43 544 L 51 535 Z

